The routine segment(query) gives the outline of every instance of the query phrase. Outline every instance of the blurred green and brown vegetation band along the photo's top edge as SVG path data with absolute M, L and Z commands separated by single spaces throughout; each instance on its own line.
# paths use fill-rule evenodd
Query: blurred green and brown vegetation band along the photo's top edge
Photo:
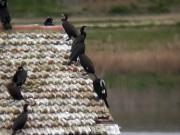
M 179 0 L 132 0 L 126 1 L 74 1 L 74 0 L 9 0 L 14 17 L 59 17 L 65 11 L 74 15 L 131 15 L 180 12 Z

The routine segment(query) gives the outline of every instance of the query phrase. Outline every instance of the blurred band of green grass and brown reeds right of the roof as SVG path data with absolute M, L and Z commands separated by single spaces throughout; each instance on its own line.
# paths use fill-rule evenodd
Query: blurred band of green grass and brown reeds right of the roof
M 109 88 L 140 91 L 180 88 L 179 26 L 92 28 L 87 32 L 87 52 L 92 54 L 99 74 L 105 72 Z M 155 54 L 157 50 L 159 53 Z

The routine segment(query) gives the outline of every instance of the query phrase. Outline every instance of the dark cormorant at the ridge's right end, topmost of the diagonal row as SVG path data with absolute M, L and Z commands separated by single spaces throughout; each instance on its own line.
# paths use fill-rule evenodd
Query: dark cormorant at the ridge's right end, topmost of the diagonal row
M 70 40 L 71 37 L 76 38 L 78 36 L 78 32 L 76 28 L 71 23 L 68 22 L 68 14 L 63 13 L 63 16 L 64 18 L 62 18 L 61 21 L 62 21 L 62 26 L 69 37 L 67 40 Z

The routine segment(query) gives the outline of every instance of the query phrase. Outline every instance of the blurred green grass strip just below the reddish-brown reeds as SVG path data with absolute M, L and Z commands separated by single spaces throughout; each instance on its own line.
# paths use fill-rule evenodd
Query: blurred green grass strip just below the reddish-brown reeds
M 179 74 L 141 74 L 141 73 L 108 73 L 105 75 L 108 87 L 125 90 L 178 90 L 180 89 Z

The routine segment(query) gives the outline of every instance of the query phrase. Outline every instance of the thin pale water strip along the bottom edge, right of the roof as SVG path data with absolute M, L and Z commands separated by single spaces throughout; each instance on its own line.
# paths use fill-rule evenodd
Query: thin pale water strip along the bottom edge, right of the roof
M 180 135 L 180 132 L 122 132 L 122 135 Z

